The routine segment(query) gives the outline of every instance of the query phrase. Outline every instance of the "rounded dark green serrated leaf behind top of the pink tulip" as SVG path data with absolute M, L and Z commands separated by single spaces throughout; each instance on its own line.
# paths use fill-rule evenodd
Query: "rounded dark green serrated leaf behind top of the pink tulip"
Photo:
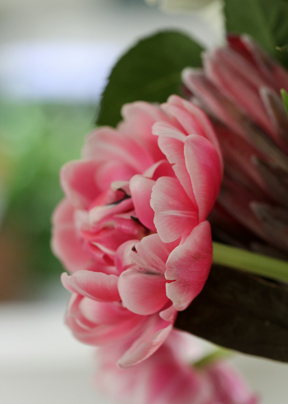
M 140 40 L 113 67 L 96 123 L 115 126 L 125 103 L 161 103 L 171 94 L 181 94 L 181 71 L 187 66 L 199 67 L 201 51 L 190 37 L 176 31 Z

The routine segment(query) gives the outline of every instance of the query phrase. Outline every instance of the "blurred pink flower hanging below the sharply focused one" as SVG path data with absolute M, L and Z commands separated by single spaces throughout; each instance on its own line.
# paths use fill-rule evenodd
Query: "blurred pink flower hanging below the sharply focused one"
M 242 377 L 232 366 L 218 360 L 204 368 L 191 363 L 201 350 L 195 339 L 173 331 L 145 362 L 130 369 L 115 365 L 125 346 L 97 351 L 98 389 L 125 404 L 255 404 Z M 189 363 L 190 362 L 190 363 Z

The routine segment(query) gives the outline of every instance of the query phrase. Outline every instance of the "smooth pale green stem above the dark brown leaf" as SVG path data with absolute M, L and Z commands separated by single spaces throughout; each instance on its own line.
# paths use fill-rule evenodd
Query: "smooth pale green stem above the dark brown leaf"
M 213 263 L 288 283 L 288 262 L 213 242 Z

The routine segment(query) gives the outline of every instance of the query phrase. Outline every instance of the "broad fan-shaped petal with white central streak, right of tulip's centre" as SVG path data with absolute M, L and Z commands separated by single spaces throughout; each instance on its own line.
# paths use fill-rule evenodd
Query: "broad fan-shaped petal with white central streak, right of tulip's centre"
M 161 177 L 152 188 L 154 224 L 165 243 L 188 236 L 198 224 L 198 209 L 175 178 Z

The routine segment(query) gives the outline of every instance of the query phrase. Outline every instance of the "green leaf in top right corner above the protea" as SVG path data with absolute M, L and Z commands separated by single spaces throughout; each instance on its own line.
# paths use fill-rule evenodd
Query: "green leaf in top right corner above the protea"
M 288 65 L 288 56 L 276 50 L 287 44 L 287 0 L 226 0 L 227 32 L 249 34 L 271 55 Z

